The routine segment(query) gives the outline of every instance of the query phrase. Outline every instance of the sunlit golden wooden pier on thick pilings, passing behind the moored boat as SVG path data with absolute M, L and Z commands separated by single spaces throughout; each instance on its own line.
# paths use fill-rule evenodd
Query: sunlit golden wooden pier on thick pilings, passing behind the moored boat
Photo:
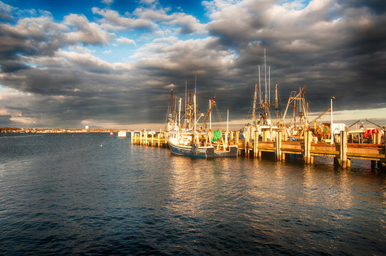
M 143 132 L 132 131 L 131 143 L 144 146 L 167 147 L 167 132 Z M 373 143 L 352 143 L 353 137 L 347 131 L 340 132 L 335 141 L 339 143 L 330 144 L 326 142 L 315 142 L 315 137 L 311 131 L 305 132 L 303 139 L 291 141 L 281 130 L 268 140 L 265 132 L 259 134 L 255 131 L 252 136 L 246 132 L 246 139 L 239 139 L 239 132 L 224 132 L 228 134 L 224 142 L 229 145 L 238 145 L 238 156 L 256 159 L 261 158 L 262 152 L 275 154 L 277 161 L 284 161 L 288 154 L 302 155 L 306 164 L 313 164 L 315 156 L 330 156 L 334 159 L 334 164 L 342 168 L 348 168 L 351 159 L 365 159 L 371 161 L 371 166 L 386 169 L 386 148 L 385 142 L 377 136 L 371 139 Z M 351 142 L 351 143 L 350 143 Z

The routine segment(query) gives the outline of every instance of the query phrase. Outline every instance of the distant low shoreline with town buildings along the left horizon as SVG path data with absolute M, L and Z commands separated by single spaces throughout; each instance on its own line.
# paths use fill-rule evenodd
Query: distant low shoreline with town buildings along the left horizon
M 76 132 L 120 132 L 122 129 L 49 129 L 49 128 L 19 128 L 0 127 L 0 133 L 76 133 Z M 127 130 L 128 131 L 128 130 Z

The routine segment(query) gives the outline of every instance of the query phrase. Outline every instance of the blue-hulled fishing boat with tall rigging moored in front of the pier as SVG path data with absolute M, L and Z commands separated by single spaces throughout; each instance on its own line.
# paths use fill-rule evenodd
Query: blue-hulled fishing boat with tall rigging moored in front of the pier
M 171 91 L 173 95 L 173 91 Z M 217 157 L 236 157 L 237 145 L 229 145 L 229 132 L 207 129 L 206 122 L 216 105 L 214 98 L 209 101 L 207 114 L 199 114 L 197 118 L 196 94 L 189 95 L 189 103 L 185 103 L 184 116 L 181 117 L 182 98 L 178 100 L 178 112 L 171 110 L 167 121 L 167 144 L 172 154 L 191 156 L 204 159 Z M 173 96 L 172 96 L 173 99 Z M 172 100 L 171 100 L 172 102 Z M 171 106 L 173 103 L 171 103 Z M 178 114 L 177 114 L 178 113 Z M 205 116 L 204 124 L 198 125 L 199 118 Z M 181 122 L 184 119 L 184 122 Z

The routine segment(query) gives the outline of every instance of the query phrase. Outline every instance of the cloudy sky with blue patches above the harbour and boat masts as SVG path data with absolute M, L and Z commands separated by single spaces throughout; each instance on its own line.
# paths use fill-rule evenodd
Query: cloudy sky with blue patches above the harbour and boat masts
M 281 110 L 306 86 L 311 115 L 385 125 L 386 1 L 0 1 L 0 127 L 160 129 L 195 84 L 242 125 L 259 65 Z

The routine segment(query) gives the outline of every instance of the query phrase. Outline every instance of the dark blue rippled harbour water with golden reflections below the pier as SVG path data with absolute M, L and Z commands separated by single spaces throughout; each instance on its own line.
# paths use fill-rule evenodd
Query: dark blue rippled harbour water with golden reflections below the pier
M 0 254 L 385 255 L 385 173 L 332 162 L 190 159 L 103 133 L 7 134 Z

